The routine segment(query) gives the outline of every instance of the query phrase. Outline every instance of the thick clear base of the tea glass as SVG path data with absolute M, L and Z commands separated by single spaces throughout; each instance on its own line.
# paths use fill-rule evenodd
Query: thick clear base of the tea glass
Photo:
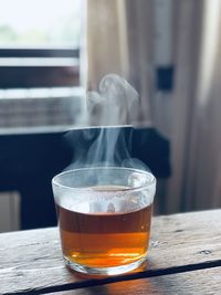
M 75 262 L 70 261 L 64 256 L 64 261 L 69 267 L 73 271 L 84 273 L 84 274 L 94 274 L 94 275 L 117 275 L 130 272 L 137 267 L 139 267 L 147 259 L 147 255 L 141 257 L 138 261 L 135 261 L 129 264 L 119 265 L 119 266 L 112 266 L 112 267 L 90 267 L 86 265 L 82 265 Z

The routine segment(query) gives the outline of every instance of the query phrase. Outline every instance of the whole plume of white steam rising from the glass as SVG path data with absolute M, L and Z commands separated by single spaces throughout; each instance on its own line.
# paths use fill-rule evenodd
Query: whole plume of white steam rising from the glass
M 138 120 L 138 93 L 122 77 L 106 75 L 97 92 L 87 93 L 87 128 L 67 134 L 74 147 L 73 164 L 67 169 L 124 166 L 141 168 L 129 155 L 130 136 L 125 128 Z M 96 127 L 92 127 L 96 126 Z

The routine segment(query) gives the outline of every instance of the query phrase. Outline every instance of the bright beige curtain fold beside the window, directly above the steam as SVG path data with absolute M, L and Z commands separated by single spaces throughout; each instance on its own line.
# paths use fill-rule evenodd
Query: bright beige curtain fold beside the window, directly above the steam
M 87 6 L 88 87 L 96 89 L 106 74 L 128 75 L 125 9 L 120 0 L 92 0 Z

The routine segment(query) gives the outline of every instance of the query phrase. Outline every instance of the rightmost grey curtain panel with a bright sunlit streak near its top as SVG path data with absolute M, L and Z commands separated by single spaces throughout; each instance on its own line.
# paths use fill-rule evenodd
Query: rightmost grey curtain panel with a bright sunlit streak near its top
M 221 1 L 175 1 L 176 86 L 166 212 L 221 206 Z

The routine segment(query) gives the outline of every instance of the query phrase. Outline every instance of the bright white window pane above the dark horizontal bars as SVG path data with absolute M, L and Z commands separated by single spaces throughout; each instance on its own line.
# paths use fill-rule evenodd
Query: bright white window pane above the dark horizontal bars
M 81 0 L 0 0 L 0 48 L 78 48 Z

